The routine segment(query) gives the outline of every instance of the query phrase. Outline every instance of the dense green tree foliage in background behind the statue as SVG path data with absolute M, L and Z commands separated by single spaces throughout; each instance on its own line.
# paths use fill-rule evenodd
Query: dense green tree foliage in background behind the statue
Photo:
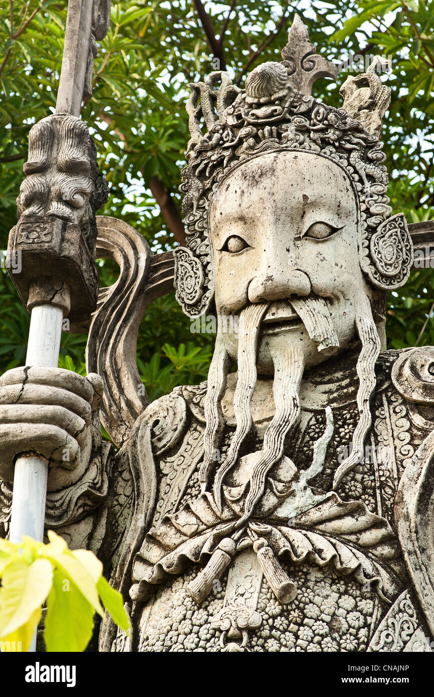
M 204 3 L 231 77 L 242 84 L 261 61 L 279 60 L 286 29 L 298 11 L 318 52 L 335 62 L 350 54 L 392 56 L 392 104 L 383 140 L 395 213 L 410 222 L 434 213 L 434 0 L 238 0 Z M 180 211 L 180 169 L 189 138 L 187 84 L 215 69 L 214 55 L 194 3 L 187 0 L 112 2 L 111 26 L 95 60 L 93 97 L 82 112 L 98 148 L 101 173 L 110 186 L 102 213 L 120 217 L 146 237 L 154 252 L 176 240 L 150 193 L 159 178 Z M 31 125 L 54 110 L 59 82 L 66 3 L 10 0 L 0 9 L 0 209 L 1 245 L 15 223 Z M 339 86 L 320 80 L 314 94 L 336 107 Z M 103 285 L 116 266 L 100 265 Z M 390 347 L 434 344 L 433 270 L 412 272 L 405 289 L 388 303 Z M 0 371 L 22 365 L 28 318 L 10 280 L 0 275 Z M 421 330 L 424 328 L 423 333 Z M 421 336 L 419 336 L 421 335 Z M 138 342 L 139 371 L 151 399 L 180 383 L 206 377 L 212 335 L 192 335 L 173 296 L 146 314 Z M 63 335 L 62 367 L 84 372 L 84 335 Z M 182 348 L 182 344 L 185 348 Z M 199 351 L 195 351 L 199 348 Z M 184 353 L 183 353 L 184 352 Z M 69 357 L 69 358 L 68 358 Z

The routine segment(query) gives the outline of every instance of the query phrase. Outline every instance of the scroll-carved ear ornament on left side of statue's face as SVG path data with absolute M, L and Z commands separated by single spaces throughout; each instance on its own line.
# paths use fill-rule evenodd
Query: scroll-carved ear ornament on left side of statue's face
M 202 264 L 187 247 L 176 247 L 173 254 L 176 300 L 189 317 L 199 316 L 203 312 L 201 299 L 205 282 Z M 201 307 L 200 312 L 198 312 L 199 307 Z

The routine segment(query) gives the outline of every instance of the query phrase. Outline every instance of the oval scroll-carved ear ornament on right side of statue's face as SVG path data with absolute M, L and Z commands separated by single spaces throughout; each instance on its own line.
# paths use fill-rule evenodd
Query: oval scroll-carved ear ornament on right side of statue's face
M 367 273 L 379 288 L 391 291 L 405 284 L 413 263 L 413 245 L 403 213 L 380 223 L 370 242 Z

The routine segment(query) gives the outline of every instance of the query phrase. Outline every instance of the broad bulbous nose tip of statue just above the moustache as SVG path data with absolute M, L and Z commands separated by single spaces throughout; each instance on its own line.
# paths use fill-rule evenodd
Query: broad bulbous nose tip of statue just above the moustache
M 254 278 L 248 290 L 250 302 L 267 302 L 285 300 L 290 296 L 309 296 L 311 282 L 309 277 L 299 270 L 288 270 L 286 273 L 274 270 Z

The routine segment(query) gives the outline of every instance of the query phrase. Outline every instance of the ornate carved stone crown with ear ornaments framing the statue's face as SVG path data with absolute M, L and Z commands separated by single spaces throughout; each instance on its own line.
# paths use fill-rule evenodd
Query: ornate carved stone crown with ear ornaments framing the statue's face
M 180 185 L 187 247 L 174 252 L 176 297 L 190 317 L 207 312 L 214 298 L 208 230 L 213 192 L 238 164 L 281 149 L 317 153 L 346 171 L 359 201 L 362 270 L 373 286 L 384 291 L 408 279 L 412 242 L 403 214 L 391 216 L 379 141 L 390 90 L 378 71 L 389 67 L 387 61 L 375 56 L 366 73 L 348 77 L 340 90 L 343 108 L 335 109 L 311 97 L 316 79 L 336 77 L 337 69 L 316 55 L 297 15 L 281 55 L 281 63 L 262 63 L 250 72 L 244 90 L 222 71 L 210 73 L 205 82 L 189 84 L 191 139 Z M 205 135 L 202 119 L 208 129 Z

